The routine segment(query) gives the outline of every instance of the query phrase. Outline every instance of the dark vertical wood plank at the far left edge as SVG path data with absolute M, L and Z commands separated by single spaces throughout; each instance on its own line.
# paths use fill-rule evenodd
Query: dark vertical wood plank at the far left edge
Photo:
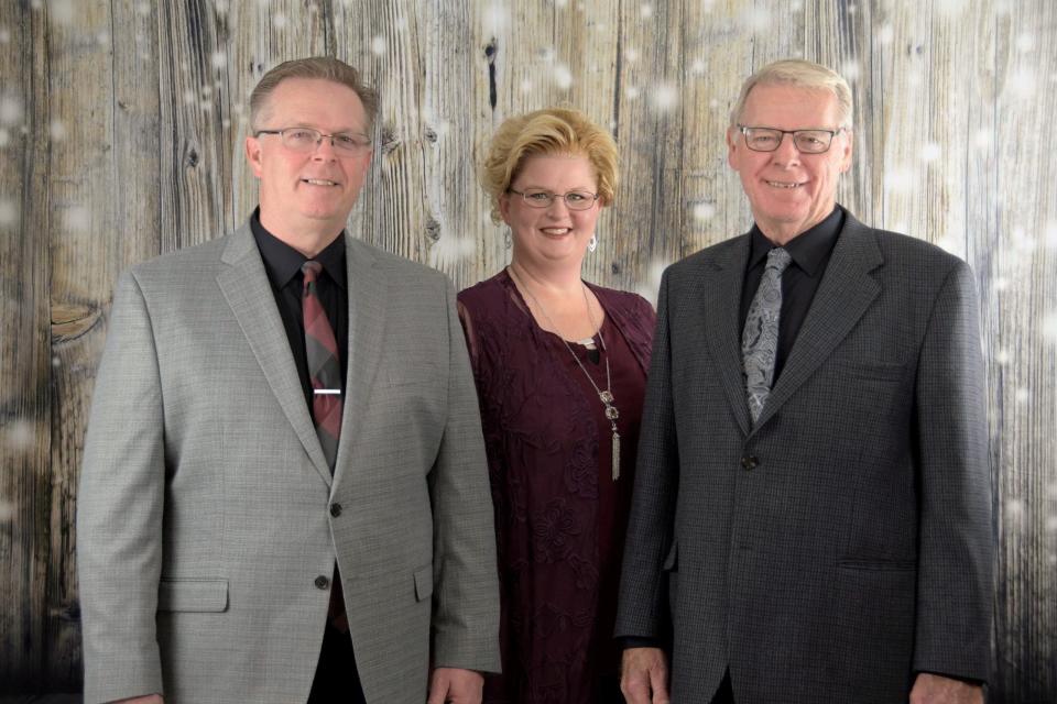
M 47 26 L 0 7 L 0 692 L 44 685 L 48 418 Z

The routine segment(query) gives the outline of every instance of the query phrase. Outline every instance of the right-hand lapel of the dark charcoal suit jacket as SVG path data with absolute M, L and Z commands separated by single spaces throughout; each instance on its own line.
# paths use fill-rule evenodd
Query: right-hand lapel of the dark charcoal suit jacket
M 785 369 L 771 391 L 756 428 L 760 428 L 806 382 L 848 336 L 881 293 L 870 276 L 884 262 L 870 228 L 844 213 L 833 253 L 811 301 L 807 318 L 789 352 Z

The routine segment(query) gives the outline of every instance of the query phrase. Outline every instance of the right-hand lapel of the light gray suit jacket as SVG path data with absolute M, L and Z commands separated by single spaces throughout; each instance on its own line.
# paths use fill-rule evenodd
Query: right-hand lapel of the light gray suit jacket
M 351 458 L 360 429 L 359 420 L 367 413 L 367 399 L 378 375 L 379 360 L 385 342 L 389 280 L 373 248 L 348 233 L 346 270 L 349 294 L 348 371 L 345 382 L 345 409 L 341 414 L 341 438 L 335 461 L 335 482 L 341 479 Z

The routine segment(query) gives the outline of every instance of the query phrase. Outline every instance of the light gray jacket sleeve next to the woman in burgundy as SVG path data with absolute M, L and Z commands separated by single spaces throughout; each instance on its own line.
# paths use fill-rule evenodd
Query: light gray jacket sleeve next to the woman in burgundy
M 495 530 L 477 392 L 446 282 L 448 422 L 429 475 L 434 522 L 433 664 L 499 672 Z

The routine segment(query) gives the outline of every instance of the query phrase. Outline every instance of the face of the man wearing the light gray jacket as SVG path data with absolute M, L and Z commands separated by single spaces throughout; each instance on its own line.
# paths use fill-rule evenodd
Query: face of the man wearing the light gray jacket
M 288 78 L 272 91 L 258 130 L 313 128 L 324 134 L 368 131 L 363 103 L 351 88 L 329 80 Z M 277 134 L 246 139 L 246 154 L 261 180 L 261 221 L 276 237 L 339 232 L 363 186 L 371 152 L 347 155 L 330 140 L 310 152 L 283 144 Z

